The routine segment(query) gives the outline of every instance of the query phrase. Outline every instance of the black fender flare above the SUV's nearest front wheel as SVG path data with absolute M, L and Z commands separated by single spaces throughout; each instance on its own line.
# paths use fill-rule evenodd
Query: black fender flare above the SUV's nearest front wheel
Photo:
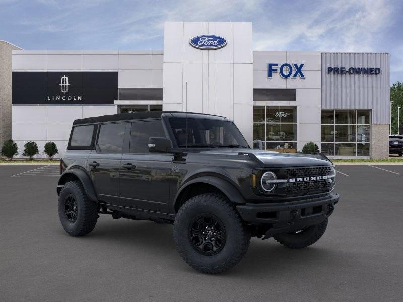
M 227 198 L 234 203 L 245 203 L 245 198 L 242 196 L 242 194 L 239 192 L 239 190 L 231 184 L 229 181 L 222 179 L 220 177 L 216 176 L 200 176 L 197 178 L 194 178 L 188 182 L 186 182 L 178 191 L 178 193 L 175 196 L 174 204 L 173 207 L 176 207 L 177 202 L 179 202 L 178 198 L 181 196 L 183 191 L 190 185 L 195 184 L 195 183 L 206 183 L 209 185 L 212 185 L 219 189 Z

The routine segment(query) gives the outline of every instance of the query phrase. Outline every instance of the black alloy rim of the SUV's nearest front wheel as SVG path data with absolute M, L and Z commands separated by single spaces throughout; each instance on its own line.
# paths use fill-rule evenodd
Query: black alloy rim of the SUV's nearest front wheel
M 211 256 L 219 253 L 227 238 L 223 223 L 212 214 L 197 215 L 189 225 L 189 240 L 200 254 Z

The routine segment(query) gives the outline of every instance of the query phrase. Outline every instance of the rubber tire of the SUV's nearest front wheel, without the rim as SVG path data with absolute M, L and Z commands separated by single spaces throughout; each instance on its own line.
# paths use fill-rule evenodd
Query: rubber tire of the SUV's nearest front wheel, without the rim
M 200 214 L 217 217 L 225 228 L 225 244 L 214 255 L 201 254 L 190 239 L 191 224 Z M 250 234 L 235 206 L 225 196 L 216 193 L 187 200 L 176 215 L 173 234 L 176 248 L 185 262 L 207 274 L 222 273 L 236 265 L 244 257 L 250 242 Z

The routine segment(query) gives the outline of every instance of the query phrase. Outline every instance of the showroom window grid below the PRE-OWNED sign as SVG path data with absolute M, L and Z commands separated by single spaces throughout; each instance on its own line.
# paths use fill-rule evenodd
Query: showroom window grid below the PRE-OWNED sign
M 329 156 L 370 156 L 370 110 L 322 110 L 321 152 Z

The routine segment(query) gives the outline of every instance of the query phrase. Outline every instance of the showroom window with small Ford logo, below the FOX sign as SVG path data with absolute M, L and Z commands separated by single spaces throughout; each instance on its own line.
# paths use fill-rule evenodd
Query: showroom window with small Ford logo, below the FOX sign
M 266 150 L 297 151 L 297 107 L 253 106 L 253 139 Z

